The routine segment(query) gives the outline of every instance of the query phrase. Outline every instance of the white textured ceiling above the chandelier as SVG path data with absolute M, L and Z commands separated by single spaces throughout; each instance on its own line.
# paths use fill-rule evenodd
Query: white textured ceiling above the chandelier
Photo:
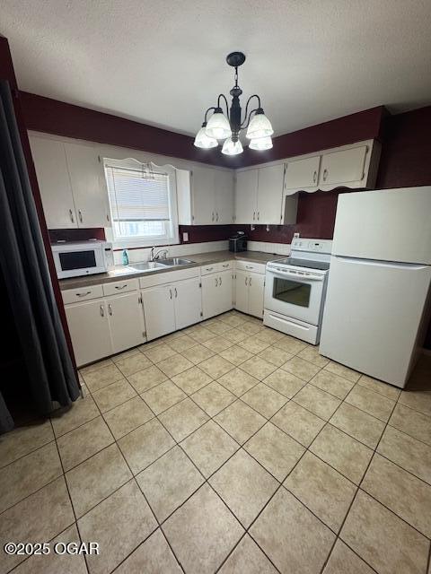
M 233 84 L 276 134 L 431 103 L 429 0 L 3 0 L 20 88 L 193 134 Z

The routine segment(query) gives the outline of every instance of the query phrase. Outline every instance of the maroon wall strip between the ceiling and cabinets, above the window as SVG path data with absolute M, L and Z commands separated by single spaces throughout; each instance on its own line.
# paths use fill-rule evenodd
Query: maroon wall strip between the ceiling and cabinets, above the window
M 222 155 L 220 148 L 200 150 L 193 145 L 193 138 L 189 135 L 176 134 L 27 91 L 22 91 L 20 95 L 28 129 L 231 167 L 231 162 Z

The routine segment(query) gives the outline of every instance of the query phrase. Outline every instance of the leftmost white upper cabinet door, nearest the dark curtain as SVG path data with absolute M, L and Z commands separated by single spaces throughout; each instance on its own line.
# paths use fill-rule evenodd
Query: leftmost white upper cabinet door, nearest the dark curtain
M 64 143 L 30 135 L 30 145 L 48 228 L 77 227 Z

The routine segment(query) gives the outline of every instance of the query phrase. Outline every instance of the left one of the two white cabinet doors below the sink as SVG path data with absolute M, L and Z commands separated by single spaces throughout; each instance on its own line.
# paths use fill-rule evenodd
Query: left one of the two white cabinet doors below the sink
M 141 291 L 144 304 L 146 340 L 175 331 L 172 285 L 160 285 Z

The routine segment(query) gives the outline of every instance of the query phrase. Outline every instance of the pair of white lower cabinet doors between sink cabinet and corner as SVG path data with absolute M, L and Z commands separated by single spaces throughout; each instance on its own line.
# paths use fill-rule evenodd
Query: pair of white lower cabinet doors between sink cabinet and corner
M 233 308 L 232 271 L 207 274 L 202 277 L 202 314 L 204 319 L 215 317 Z

